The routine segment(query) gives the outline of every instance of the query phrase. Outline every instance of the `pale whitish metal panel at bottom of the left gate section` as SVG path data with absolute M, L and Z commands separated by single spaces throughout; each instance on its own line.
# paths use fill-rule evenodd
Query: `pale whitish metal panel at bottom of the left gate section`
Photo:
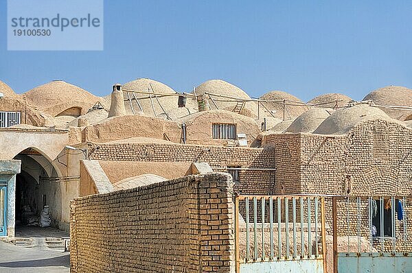
M 323 273 L 323 259 L 241 263 L 240 273 Z M 388 272 L 386 272 L 388 273 Z

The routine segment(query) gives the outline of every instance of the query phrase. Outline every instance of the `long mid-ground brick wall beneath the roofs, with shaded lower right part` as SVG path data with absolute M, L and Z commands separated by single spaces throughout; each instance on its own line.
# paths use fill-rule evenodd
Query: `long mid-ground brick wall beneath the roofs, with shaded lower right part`
M 224 171 L 226 167 L 251 168 L 240 170 L 240 182 L 234 186 L 237 193 L 273 194 L 275 191 L 277 174 L 273 169 L 277 154 L 272 147 L 88 143 L 88 148 L 89 158 L 100 161 L 207 162 L 216 171 Z

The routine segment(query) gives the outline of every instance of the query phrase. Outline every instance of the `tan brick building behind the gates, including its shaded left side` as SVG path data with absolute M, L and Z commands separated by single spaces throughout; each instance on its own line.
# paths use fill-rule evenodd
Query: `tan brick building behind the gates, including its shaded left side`
M 345 135 L 273 134 L 265 145 L 273 146 L 277 180 L 285 181 L 286 193 L 334 194 L 351 196 L 409 196 L 412 193 L 412 130 L 390 121 L 367 121 Z M 284 154 L 284 156 L 282 156 Z M 284 179 L 278 180 L 284 172 Z M 299 186 L 293 187 L 293 181 Z M 291 184 L 292 183 L 292 184 Z M 412 209 L 412 206 L 411 206 Z M 412 210 L 405 208 L 407 216 Z M 332 198 L 325 202 L 326 222 L 332 226 Z M 347 231 L 347 206 L 338 203 L 338 235 Z M 350 206 L 349 234 L 357 234 L 356 206 Z M 367 206 L 361 206 L 361 234 L 369 237 Z M 367 227 L 365 229 L 365 227 Z M 412 225 L 403 237 L 403 222 L 396 219 L 397 250 L 407 247 Z M 402 243 L 402 241 L 407 243 Z M 385 242 L 387 244 L 387 242 Z M 398 248 L 402 246 L 402 249 Z M 387 248 L 387 247 L 386 247 Z M 387 248 L 388 249 L 388 248 Z

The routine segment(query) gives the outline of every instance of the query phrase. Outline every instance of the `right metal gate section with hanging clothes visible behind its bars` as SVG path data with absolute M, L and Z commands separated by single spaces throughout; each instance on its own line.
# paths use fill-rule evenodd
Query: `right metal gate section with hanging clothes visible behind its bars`
M 395 196 L 334 197 L 334 272 L 412 272 L 410 201 Z

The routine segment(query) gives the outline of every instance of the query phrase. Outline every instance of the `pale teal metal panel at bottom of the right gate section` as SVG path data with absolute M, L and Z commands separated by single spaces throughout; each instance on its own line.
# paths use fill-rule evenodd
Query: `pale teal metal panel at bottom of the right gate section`
M 363 272 L 412 272 L 412 253 L 338 253 L 338 273 Z

